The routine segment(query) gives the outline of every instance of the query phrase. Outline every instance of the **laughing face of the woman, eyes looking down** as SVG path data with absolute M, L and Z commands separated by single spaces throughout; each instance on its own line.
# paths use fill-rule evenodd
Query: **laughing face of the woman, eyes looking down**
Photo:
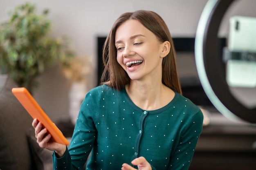
M 132 80 L 162 78 L 164 43 L 137 20 L 127 20 L 115 34 L 117 62 Z

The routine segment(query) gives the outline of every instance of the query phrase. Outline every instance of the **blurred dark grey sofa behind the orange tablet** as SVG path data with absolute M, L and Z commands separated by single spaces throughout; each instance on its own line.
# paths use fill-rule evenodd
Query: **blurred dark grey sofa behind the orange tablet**
M 52 152 L 36 143 L 32 118 L 13 87 L 11 78 L 0 75 L 0 170 L 52 170 Z

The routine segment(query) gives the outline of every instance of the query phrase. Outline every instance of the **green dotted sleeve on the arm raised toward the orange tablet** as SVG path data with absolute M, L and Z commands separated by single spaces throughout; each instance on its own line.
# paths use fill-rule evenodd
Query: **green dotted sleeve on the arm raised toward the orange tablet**
M 99 95 L 96 90 L 87 93 L 81 104 L 70 147 L 61 158 L 52 155 L 54 170 L 83 169 L 97 138 L 95 120 L 97 119 Z

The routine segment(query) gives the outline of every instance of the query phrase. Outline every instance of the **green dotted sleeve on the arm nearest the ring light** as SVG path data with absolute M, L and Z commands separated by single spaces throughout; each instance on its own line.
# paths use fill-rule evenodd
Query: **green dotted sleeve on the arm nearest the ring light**
M 202 132 L 203 114 L 199 110 L 182 129 L 180 141 L 171 155 L 170 170 L 188 170 Z

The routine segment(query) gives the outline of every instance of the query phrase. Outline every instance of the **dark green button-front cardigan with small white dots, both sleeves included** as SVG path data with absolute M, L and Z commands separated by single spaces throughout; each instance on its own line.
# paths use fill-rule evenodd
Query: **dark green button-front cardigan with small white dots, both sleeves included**
M 106 85 L 87 93 L 76 121 L 70 148 L 53 154 L 54 170 L 120 170 L 143 156 L 153 170 L 187 170 L 202 131 L 201 110 L 175 93 L 157 110 L 143 110 Z M 135 167 L 137 168 L 137 167 Z

